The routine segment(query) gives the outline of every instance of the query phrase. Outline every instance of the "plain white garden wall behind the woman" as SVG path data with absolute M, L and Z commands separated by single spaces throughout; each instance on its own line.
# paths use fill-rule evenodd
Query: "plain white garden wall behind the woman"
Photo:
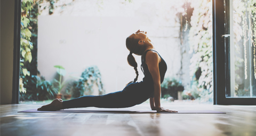
M 141 29 L 148 32 L 155 49 L 167 62 L 166 75 L 177 76 L 181 54 L 176 13 L 182 2 L 163 2 L 103 1 L 103 9 L 99 10 L 96 1 L 77 0 L 64 9 L 55 9 L 53 15 L 43 11 L 38 17 L 38 70 L 51 80 L 55 76 L 53 66 L 62 65 L 69 73 L 67 79 L 97 65 L 106 92 L 122 90 L 135 77 L 126 61 L 129 51 L 125 39 Z M 136 60 L 141 81 L 140 57 Z

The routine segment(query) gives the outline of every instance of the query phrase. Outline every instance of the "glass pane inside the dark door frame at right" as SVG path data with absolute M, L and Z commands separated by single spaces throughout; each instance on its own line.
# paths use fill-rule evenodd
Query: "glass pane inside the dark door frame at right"
M 256 1 L 225 1 L 226 62 L 230 62 L 226 97 L 229 98 L 256 97 L 255 5 Z

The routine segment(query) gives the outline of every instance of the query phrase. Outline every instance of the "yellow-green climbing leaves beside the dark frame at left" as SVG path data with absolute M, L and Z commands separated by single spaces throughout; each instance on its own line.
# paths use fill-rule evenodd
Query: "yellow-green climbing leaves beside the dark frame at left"
M 49 14 L 53 13 L 54 3 L 58 0 L 49 0 L 50 3 Z M 23 0 L 21 3 L 21 45 L 20 45 L 20 99 L 21 100 L 38 100 L 39 98 L 51 98 L 51 94 L 55 91 L 47 91 L 53 87 L 50 81 L 41 81 L 40 78 L 35 78 L 39 73 L 37 70 L 37 17 L 40 14 L 39 7 L 41 7 L 43 0 Z M 36 76 L 37 77 L 37 76 Z M 37 82 L 35 80 L 38 80 Z M 42 87 L 35 88 L 29 85 L 36 85 L 42 83 Z M 27 88 L 26 88 L 27 86 Z M 32 90 L 29 90 L 32 89 Z M 39 90 L 38 90 L 39 89 Z M 28 93 L 26 93 L 28 92 Z M 44 93 L 45 92 L 45 93 Z M 37 94 L 38 93 L 38 94 Z M 45 94 L 46 97 L 41 97 Z M 56 93 L 56 92 L 55 92 Z M 34 95 L 37 94 L 37 95 Z M 39 97 L 38 97 L 39 96 Z

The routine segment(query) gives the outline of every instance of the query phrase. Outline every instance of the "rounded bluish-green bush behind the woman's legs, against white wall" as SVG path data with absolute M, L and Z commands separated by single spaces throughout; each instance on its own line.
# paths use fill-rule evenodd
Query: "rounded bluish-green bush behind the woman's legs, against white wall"
M 87 67 L 81 75 L 79 81 L 73 82 L 73 97 L 81 97 L 86 93 L 93 93 L 93 86 L 98 86 L 99 95 L 104 94 L 103 84 L 101 82 L 101 74 L 97 66 Z

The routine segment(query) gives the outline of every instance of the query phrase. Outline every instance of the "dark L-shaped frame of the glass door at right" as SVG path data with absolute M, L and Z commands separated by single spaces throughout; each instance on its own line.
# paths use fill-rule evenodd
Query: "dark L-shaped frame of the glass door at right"
M 229 51 L 225 51 L 225 7 L 229 0 L 212 0 L 213 18 L 213 104 L 214 105 L 256 105 L 256 98 L 226 98 L 226 91 L 230 91 Z M 232 1 L 232 0 L 231 0 Z M 228 5 L 229 6 L 229 5 Z M 228 8 L 229 9 L 229 8 Z

